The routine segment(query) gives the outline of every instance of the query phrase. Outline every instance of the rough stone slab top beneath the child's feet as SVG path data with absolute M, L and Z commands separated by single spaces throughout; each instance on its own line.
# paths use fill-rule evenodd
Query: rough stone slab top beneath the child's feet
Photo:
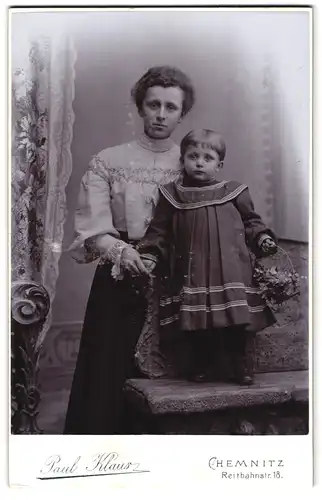
M 196 413 L 264 404 L 290 402 L 306 391 L 308 371 L 258 373 L 254 385 L 242 387 L 228 382 L 193 383 L 176 379 L 130 379 L 125 392 L 142 412 L 154 415 Z

